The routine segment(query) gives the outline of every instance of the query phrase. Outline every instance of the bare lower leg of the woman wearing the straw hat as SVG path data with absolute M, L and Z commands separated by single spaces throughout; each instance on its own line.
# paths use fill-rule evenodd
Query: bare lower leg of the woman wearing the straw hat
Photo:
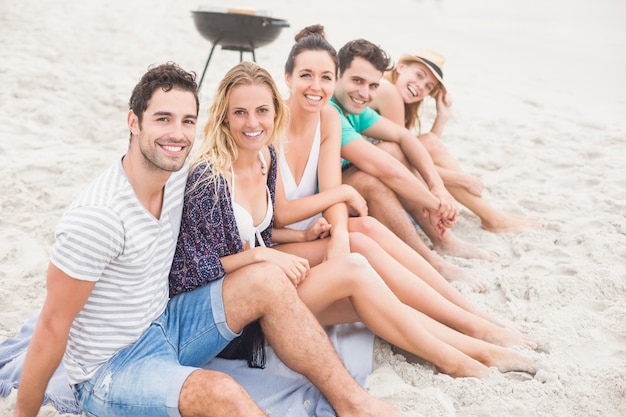
M 450 194 L 480 218 L 483 229 L 490 232 L 518 233 L 537 227 L 535 220 L 503 213 L 487 203 L 481 197 L 482 184 L 480 181 L 463 172 L 461 166 L 437 135 L 427 133 L 418 136 L 418 138 L 428 150 Z

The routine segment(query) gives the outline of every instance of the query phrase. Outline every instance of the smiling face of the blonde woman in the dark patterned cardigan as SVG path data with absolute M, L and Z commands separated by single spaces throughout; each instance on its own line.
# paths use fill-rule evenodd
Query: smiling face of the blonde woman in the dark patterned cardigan
M 233 87 L 228 101 L 227 123 L 240 150 L 258 151 L 272 138 L 276 109 L 272 90 L 261 84 Z

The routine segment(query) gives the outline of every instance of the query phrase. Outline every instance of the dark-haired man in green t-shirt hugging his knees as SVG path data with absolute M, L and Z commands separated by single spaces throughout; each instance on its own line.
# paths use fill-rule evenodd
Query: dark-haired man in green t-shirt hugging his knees
M 456 201 L 446 190 L 427 150 L 409 130 L 368 107 L 390 67 L 389 57 L 364 39 L 348 42 L 337 56 L 339 79 L 331 103 L 341 114 L 343 181 L 367 200 L 370 215 L 443 276 L 469 280 L 426 246 L 407 216 L 408 212 L 436 249 L 449 255 L 467 254 L 470 245 L 449 230 L 458 215 Z

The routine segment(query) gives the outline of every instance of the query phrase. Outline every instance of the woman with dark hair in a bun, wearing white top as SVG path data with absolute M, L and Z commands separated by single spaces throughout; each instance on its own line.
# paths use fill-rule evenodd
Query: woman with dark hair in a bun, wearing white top
M 341 183 L 341 125 L 328 104 L 336 70 L 331 55 L 320 47 L 307 50 L 296 44 L 285 66 L 290 125 L 279 148 L 274 247 L 304 257 L 312 266 L 339 254 L 359 253 L 408 306 L 462 333 L 482 337 L 485 331 L 501 345 L 536 347 L 517 329 L 503 327 L 474 307 L 417 252 L 367 216 L 360 195 Z M 348 206 L 359 216 L 349 218 Z M 312 219 L 319 213 L 324 217 Z M 324 238 L 311 240 L 314 237 Z M 305 240 L 310 241 L 302 243 Z

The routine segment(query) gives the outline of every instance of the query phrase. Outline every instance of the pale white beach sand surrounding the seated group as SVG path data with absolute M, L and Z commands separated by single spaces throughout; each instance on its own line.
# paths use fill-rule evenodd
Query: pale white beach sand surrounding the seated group
M 76 194 L 127 146 L 132 87 L 168 60 L 202 72 L 210 43 L 191 10 L 226 1 L 0 1 L 0 341 L 45 296 L 53 229 Z M 377 7 L 364 6 L 376 4 Z M 377 343 L 372 394 L 408 416 L 626 415 L 626 4 L 621 0 L 241 1 L 287 19 L 257 62 L 284 86 L 294 34 L 321 23 L 339 48 L 367 38 L 397 58 L 443 52 L 454 117 L 444 140 L 485 198 L 541 220 L 491 234 L 466 210 L 461 238 L 497 262 L 451 258 L 484 278 L 481 308 L 549 346 L 535 376 L 452 379 Z M 216 82 L 238 62 L 216 50 Z M 199 132 L 201 129 L 198 130 Z M 15 392 L 0 399 L 10 415 Z M 57 416 L 50 406 L 40 416 Z

